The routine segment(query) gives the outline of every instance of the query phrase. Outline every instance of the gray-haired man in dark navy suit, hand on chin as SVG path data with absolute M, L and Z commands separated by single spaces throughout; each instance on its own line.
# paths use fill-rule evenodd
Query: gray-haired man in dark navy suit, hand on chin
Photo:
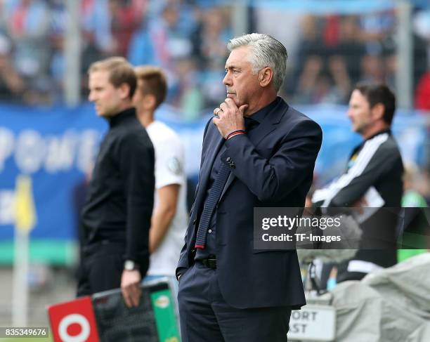
M 204 130 L 200 180 L 176 269 L 183 341 L 287 341 L 305 305 L 297 253 L 254 250 L 253 211 L 304 206 L 320 126 L 277 93 L 287 51 L 268 34 L 232 39 L 227 98 Z

